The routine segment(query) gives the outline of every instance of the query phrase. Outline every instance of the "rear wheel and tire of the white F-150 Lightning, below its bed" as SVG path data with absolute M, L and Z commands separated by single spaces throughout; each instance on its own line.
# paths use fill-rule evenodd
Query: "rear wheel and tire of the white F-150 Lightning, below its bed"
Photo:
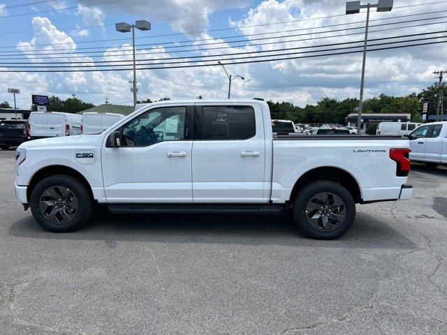
M 353 225 L 356 202 L 343 186 L 333 181 L 314 181 L 295 197 L 293 218 L 308 237 L 337 239 Z

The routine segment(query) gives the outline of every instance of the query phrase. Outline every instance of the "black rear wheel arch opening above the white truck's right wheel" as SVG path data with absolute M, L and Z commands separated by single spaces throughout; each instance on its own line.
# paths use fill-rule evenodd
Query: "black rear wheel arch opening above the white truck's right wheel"
M 360 186 L 357 179 L 353 177 L 351 173 L 335 166 L 321 166 L 319 168 L 314 168 L 305 172 L 295 182 L 290 197 L 291 203 L 293 199 L 295 199 L 295 196 L 298 194 L 300 189 L 302 189 L 307 184 L 321 180 L 334 181 L 335 183 L 340 184 L 341 186 L 346 188 L 349 193 L 351 193 L 356 203 L 360 203 L 362 201 Z

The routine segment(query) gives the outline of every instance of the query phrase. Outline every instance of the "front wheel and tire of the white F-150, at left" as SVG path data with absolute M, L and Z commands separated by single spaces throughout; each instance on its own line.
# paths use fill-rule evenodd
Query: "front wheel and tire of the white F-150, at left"
M 31 213 L 50 232 L 77 230 L 89 221 L 93 206 L 87 186 L 66 174 L 43 179 L 31 193 Z

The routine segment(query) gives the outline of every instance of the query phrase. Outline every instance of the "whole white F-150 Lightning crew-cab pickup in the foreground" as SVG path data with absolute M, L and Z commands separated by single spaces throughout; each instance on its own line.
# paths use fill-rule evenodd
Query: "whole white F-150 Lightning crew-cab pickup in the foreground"
M 356 203 L 411 198 L 409 140 L 272 133 L 255 99 L 161 101 L 98 135 L 20 145 L 15 192 L 47 230 L 112 213 L 284 211 L 302 232 L 334 239 Z

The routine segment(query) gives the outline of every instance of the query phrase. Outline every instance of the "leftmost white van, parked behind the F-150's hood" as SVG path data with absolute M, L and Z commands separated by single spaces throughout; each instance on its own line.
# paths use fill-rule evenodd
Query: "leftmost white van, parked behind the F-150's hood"
M 81 134 L 81 116 L 61 112 L 31 112 L 31 140 L 43 137 L 62 137 Z

